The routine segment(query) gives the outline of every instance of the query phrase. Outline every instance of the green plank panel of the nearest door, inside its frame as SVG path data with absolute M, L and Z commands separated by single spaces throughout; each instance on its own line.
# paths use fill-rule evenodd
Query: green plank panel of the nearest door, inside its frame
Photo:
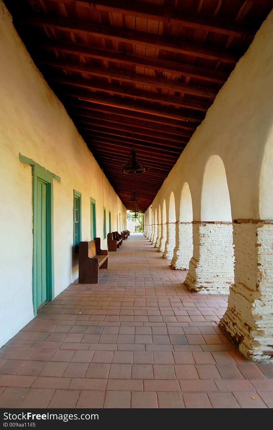
M 46 183 L 37 178 L 37 226 L 36 231 L 36 297 L 37 308 L 47 300 L 47 186 Z

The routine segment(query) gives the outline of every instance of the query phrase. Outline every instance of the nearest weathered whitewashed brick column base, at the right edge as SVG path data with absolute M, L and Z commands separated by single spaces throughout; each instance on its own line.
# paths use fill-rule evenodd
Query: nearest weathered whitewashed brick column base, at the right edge
M 220 327 L 239 351 L 273 362 L 273 221 L 233 223 L 234 285 Z

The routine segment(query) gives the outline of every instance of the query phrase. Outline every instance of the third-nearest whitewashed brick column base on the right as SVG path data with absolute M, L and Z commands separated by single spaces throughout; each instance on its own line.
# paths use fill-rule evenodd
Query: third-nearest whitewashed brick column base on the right
M 191 222 L 175 223 L 175 249 L 171 266 L 174 269 L 189 269 L 193 256 L 193 224 Z

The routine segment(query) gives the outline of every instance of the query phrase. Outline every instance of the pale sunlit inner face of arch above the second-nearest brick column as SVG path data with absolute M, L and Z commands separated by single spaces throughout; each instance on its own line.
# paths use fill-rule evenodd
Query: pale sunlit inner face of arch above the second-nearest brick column
M 218 155 L 212 155 L 206 163 L 201 194 L 201 221 L 232 221 L 226 170 Z

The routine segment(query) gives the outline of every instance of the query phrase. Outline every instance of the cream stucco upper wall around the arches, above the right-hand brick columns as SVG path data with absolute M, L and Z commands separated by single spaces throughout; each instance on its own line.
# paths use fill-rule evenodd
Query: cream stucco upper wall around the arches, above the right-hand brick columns
M 201 210 L 202 183 L 207 162 L 214 155 L 224 163 L 232 218 L 273 219 L 273 177 L 268 175 L 273 167 L 272 70 L 273 12 L 237 63 L 156 195 L 152 208 L 162 207 L 165 199 L 167 221 L 170 194 L 175 195 L 179 214 L 185 182 L 189 184 L 193 200 L 193 220 L 201 220 L 201 212 L 208 214 L 209 208 Z M 217 182 L 218 171 L 212 172 L 210 179 Z M 206 202 L 203 199 L 202 203 L 206 205 Z

